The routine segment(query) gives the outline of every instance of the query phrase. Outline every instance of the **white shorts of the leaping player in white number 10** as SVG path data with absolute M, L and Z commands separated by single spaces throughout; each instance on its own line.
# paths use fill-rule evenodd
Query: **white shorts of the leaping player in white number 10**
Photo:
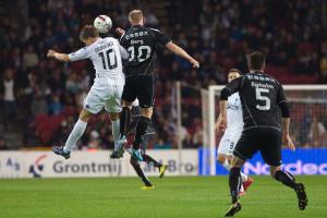
M 104 108 L 108 112 L 120 112 L 123 87 L 124 82 L 112 85 L 95 83 L 84 99 L 84 109 L 93 114 L 97 114 Z

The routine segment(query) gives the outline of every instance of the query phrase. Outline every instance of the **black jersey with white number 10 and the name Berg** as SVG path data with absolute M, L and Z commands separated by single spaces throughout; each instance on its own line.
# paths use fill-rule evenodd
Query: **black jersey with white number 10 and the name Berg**
M 132 26 L 120 43 L 130 52 L 126 75 L 153 74 L 158 44 L 166 45 L 171 39 L 162 32 L 141 25 Z

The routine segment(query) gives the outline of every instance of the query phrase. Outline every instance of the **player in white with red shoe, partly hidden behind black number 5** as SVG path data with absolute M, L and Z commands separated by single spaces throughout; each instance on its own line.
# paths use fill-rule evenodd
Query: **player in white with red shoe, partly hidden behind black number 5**
M 241 76 L 241 71 L 231 69 L 228 73 L 228 83 Z M 219 116 L 220 118 L 220 116 Z M 219 121 L 218 118 L 218 121 Z M 217 121 L 217 123 L 218 123 Z M 234 146 L 241 137 L 243 131 L 243 112 L 239 93 L 234 93 L 228 98 L 227 102 L 227 130 L 220 140 L 218 146 L 218 162 L 225 169 L 230 170 L 230 160 L 233 154 Z M 217 125 L 216 123 L 216 125 Z M 218 130 L 216 128 L 216 130 Z M 240 194 L 244 194 L 247 187 L 253 183 L 253 179 L 241 172 L 242 186 Z

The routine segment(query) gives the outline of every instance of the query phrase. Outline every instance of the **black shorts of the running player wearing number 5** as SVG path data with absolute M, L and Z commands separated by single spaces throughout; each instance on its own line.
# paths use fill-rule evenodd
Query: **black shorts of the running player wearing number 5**
M 281 132 L 272 128 L 252 128 L 244 130 L 233 155 L 251 159 L 257 152 L 269 166 L 281 165 Z

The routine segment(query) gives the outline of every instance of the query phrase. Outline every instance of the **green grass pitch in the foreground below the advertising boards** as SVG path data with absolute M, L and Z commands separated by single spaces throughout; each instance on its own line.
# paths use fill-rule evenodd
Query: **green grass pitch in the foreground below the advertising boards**
M 306 185 L 308 207 L 298 209 L 295 193 L 269 177 L 254 177 L 235 217 L 327 217 L 327 177 L 296 177 Z M 0 217 L 206 218 L 223 217 L 230 201 L 227 177 L 150 178 L 155 190 L 140 190 L 137 178 L 0 180 Z

